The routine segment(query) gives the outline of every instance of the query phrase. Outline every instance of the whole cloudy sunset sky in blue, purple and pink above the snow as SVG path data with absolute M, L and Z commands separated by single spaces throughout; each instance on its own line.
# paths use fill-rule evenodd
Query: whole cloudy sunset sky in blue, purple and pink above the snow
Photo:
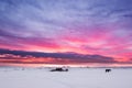
M 132 0 L 0 0 L 0 63 L 132 64 Z

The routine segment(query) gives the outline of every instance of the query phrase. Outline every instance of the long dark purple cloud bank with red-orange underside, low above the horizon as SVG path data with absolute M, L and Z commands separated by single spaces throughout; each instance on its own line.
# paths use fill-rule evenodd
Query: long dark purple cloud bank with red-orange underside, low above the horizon
M 72 63 L 118 63 L 112 57 L 82 55 L 76 53 L 41 53 L 0 50 L 0 63 L 72 64 Z

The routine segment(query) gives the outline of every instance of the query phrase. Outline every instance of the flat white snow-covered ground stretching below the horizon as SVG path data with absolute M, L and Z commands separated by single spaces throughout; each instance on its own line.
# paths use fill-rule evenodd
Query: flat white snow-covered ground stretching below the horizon
M 69 68 L 0 68 L 0 88 L 132 88 L 132 69 Z

